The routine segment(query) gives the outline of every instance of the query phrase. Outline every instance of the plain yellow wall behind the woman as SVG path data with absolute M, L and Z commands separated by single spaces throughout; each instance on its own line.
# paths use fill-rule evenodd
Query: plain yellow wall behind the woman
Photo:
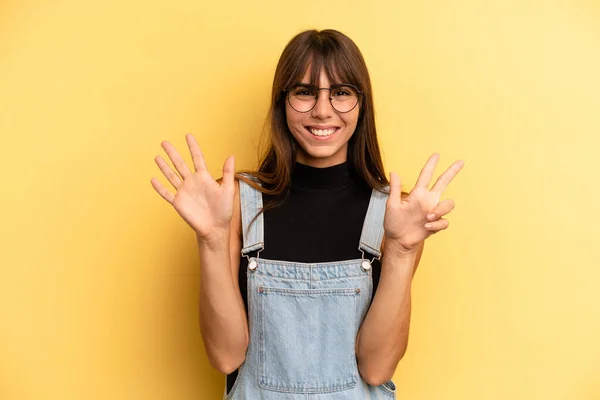
M 363 51 L 405 189 L 434 151 L 466 162 L 398 398 L 600 399 L 595 0 L 4 0 L 0 399 L 220 398 L 153 158 L 192 132 L 215 177 L 255 167 L 281 51 L 328 27 Z

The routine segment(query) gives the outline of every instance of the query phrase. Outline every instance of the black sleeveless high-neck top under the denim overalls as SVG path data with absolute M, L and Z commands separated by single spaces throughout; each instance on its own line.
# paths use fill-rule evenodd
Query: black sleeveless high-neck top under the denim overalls
M 358 245 L 370 198 L 371 188 L 348 162 L 328 168 L 296 163 L 287 197 L 264 214 L 265 248 L 260 258 L 306 263 L 360 259 Z M 263 202 L 267 200 L 263 195 Z M 238 280 L 246 315 L 247 266 L 242 257 Z M 374 260 L 373 295 L 380 272 L 381 264 Z M 236 378 L 237 371 L 227 376 L 227 393 Z

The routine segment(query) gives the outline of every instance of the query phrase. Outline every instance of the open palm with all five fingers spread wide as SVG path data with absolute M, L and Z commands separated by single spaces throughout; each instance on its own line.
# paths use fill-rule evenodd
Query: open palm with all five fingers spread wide
M 199 239 L 211 242 L 229 238 L 235 195 L 234 158 L 230 156 L 225 160 L 223 180 L 219 184 L 206 169 L 204 157 L 194 136 L 188 133 L 185 138 L 195 172 L 192 173 L 188 169 L 173 145 L 164 141 L 161 145 L 179 174 L 174 172 L 161 156 L 156 156 L 154 161 L 173 185 L 176 193 L 172 194 L 156 178 L 152 178 L 150 183 L 196 231 Z

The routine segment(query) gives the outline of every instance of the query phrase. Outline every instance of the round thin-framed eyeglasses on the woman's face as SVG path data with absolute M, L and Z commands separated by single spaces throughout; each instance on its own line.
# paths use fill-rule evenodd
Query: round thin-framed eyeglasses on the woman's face
M 356 107 L 363 92 L 354 85 L 341 83 L 331 85 L 330 88 L 318 88 L 307 84 L 298 84 L 287 92 L 287 100 L 290 106 L 301 113 L 309 112 L 317 105 L 319 90 L 329 90 L 329 101 L 331 106 L 341 113 L 350 112 Z

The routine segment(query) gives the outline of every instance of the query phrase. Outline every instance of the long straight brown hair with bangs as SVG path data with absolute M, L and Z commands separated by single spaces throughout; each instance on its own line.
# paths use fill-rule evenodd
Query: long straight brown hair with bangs
M 385 191 L 388 180 L 377 141 L 369 71 L 356 44 L 333 29 L 301 32 L 283 50 L 275 70 L 271 108 L 266 121 L 268 147 L 258 171 L 241 172 L 252 175 L 262 186 L 240 174 L 236 176 L 275 198 L 282 199 L 287 194 L 298 144 L 286 121 L 285 90 L 300 82 L 309 66 L 314 85 L 318 86 L 320 72 L 324 69 L 331 82 L 350 83 L 363 92 L 356 130 L 348 142 L 348 161 L 370 188 Z M 271 202 L 264 209 L 275 206 L 277 203 Z

